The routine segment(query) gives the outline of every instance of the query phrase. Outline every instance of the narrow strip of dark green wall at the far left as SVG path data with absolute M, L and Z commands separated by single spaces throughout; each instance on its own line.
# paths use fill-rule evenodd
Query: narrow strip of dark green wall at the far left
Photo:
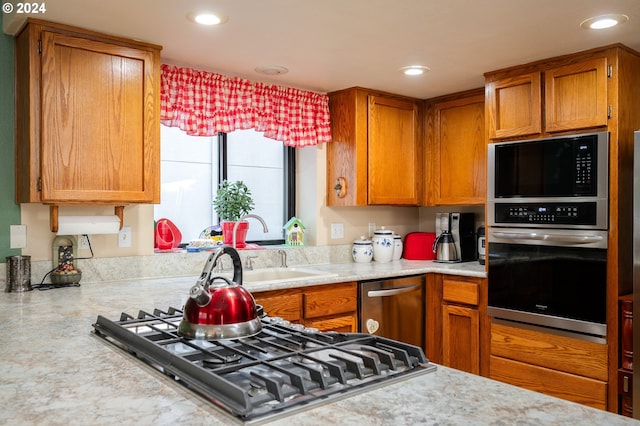
M 0 263 L 20 254 L 9 248 L 9 225 L 20 224 L 20 206 L 14 201 L 14 117 L 13 37 L 0 33 Z

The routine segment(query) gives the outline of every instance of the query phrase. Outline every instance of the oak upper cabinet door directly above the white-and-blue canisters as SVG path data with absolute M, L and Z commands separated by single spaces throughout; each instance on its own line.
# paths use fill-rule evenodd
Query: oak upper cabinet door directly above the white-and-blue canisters
M 369 96 L 368 157 L 369 204 L 420 202 L 416 103 Z

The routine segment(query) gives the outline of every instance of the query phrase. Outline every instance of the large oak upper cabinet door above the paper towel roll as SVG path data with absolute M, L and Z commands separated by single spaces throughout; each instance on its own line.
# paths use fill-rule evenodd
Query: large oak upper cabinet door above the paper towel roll
M 43 202 L 159 200 L 154 55 L 42 32 Z

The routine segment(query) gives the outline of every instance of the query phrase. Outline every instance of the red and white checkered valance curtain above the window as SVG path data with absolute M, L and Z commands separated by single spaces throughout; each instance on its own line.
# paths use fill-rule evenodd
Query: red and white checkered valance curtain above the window
M 303 147 L 331 140 L 327 95 L 162 64 L 160 121 L 193 136 L 255 129 Z

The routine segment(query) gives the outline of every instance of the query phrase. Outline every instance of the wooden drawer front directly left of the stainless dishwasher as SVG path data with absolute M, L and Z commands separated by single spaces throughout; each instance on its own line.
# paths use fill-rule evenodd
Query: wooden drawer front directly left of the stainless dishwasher
M 358 309 L 356 284 L 350 283 L 309 292 L 304 295 L 303 309 L 305 318 L 318 318 L 355 312 Z

